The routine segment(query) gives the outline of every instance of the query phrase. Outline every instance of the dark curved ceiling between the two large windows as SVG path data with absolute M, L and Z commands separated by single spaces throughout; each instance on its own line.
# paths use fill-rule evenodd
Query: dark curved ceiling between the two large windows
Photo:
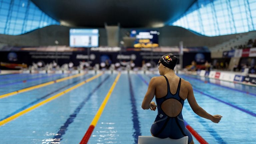
M 196 0 L 31 0 L 61 25 L 71 27 L 161 27 Z

